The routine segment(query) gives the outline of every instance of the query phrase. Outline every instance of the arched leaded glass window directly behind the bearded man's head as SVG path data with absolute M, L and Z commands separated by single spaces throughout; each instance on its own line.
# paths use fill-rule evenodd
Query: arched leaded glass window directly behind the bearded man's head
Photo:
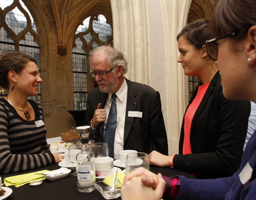
M 113 29 L 104 15 L 92 15 L 75 34 L 73 48 L 73 91 L 75 110 L 85 110 L 87 92 L 97 84 L 90 75 L 90 52 L 101 45 L 113 46 Z

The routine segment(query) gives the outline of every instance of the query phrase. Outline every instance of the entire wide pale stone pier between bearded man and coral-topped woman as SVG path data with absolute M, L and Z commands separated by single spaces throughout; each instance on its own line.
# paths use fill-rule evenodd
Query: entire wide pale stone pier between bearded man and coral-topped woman
M 114 46 L 129 60 L 127 78 L 161 94 L 169 154 L 178 153 L 188 79 L 177 63 L 177 34 L 192 0 L 110 0 Z

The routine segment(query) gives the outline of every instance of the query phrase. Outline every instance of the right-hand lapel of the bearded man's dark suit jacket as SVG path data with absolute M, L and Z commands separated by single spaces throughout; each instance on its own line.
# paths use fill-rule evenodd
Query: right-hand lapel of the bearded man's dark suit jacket
M 129 111 L 136 111 L 137 110 L 137 104 L 138 104 L 138 98 L 137 92 L 135 92 L 131 82 L 126 79 L 127 82 L 127 102 L 126 102 L 126 111 L 125 111 L 125 123 L 124 123 L 124 143 L 130 133 L 133 119 L 134 117 L 128 117 Z

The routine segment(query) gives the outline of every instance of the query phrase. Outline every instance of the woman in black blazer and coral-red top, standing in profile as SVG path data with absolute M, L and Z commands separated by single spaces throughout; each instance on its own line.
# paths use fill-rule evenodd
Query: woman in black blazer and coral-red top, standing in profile
M 209 20 L 190 23 L 177 37 L 184 73 L 201 79 L 183 118 L 179 154 L 149 154 L 153 165 L 172 166 L 204 179 L 228 177 L 238 169 L 250 115 L 250 101 L 223 97 L 217 63 L 207 57 L 204 45 L 210 39 L 208 24 Z

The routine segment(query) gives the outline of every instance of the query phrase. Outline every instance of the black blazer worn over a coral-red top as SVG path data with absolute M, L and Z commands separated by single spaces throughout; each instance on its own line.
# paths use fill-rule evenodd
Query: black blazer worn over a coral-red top
M 196 97 L 197 90 L 198 87 L 189 105 Z M 174 156 L 174 167 L 194 173 L 197 178 L 228 177 L 233 174 L 241 162 L 250 110 L 250 101 L 232 101 L 223 96 L 221 78 L 217 72 L 193 118 L 190 131 L 192 154 L 187 155 L 181 155 L 183 119 L 180 154 Z

